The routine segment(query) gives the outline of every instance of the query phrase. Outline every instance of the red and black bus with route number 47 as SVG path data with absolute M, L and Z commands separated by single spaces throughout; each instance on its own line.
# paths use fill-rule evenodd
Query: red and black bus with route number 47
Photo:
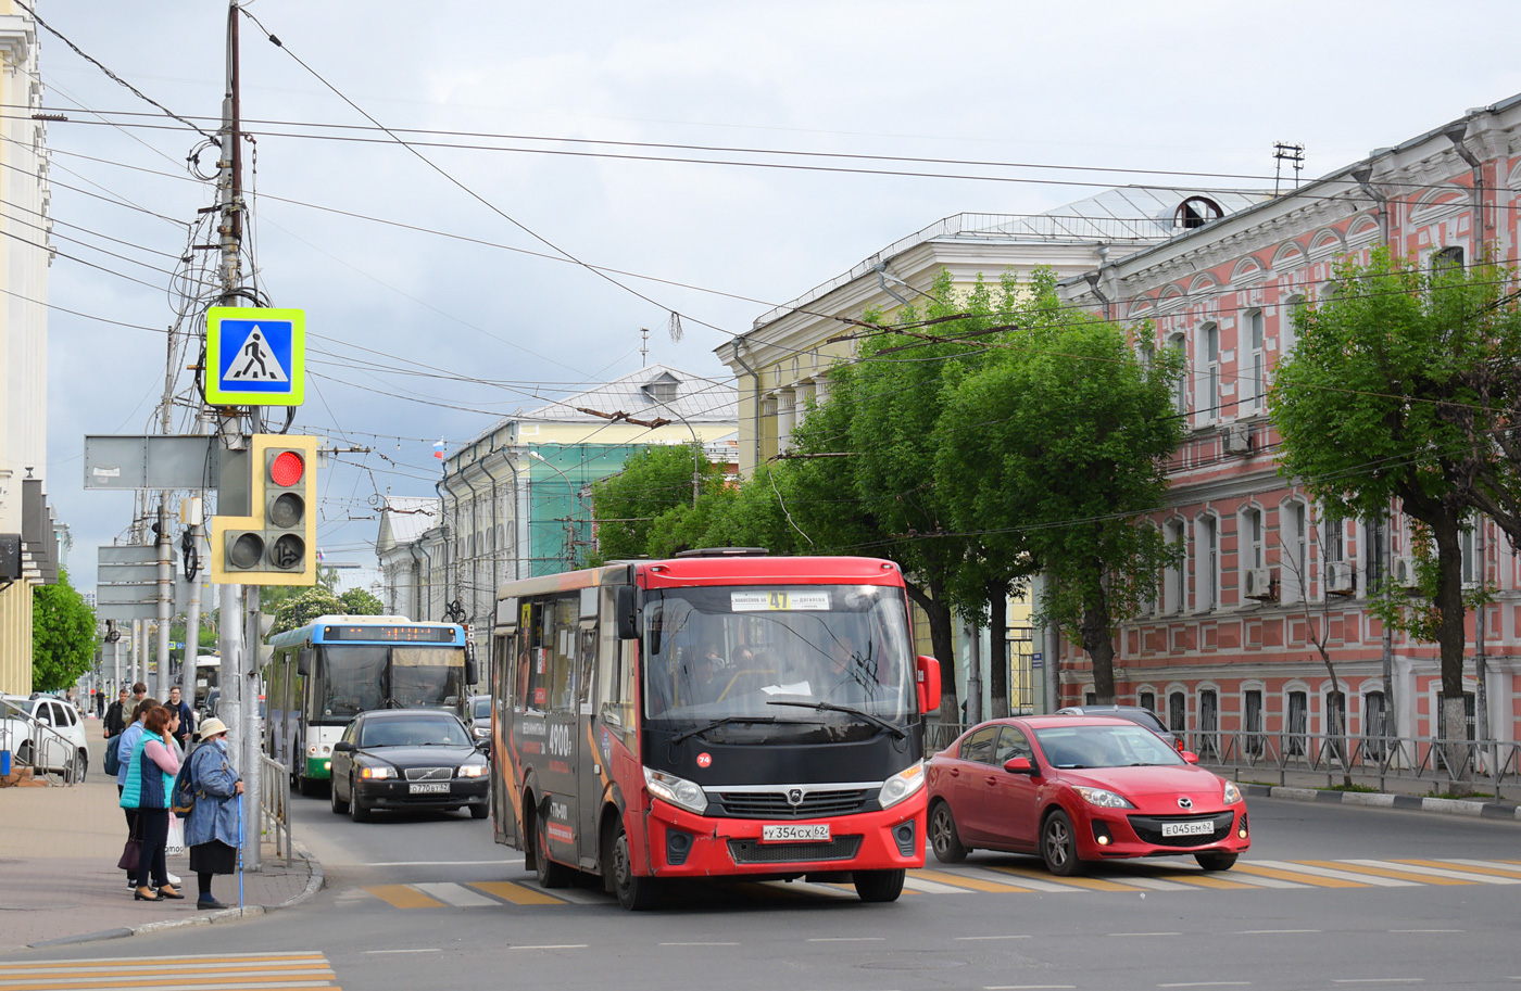
M 853 883 L 923 866 L 923 719 L 897 565 L 691 552 L 523 579 L 491 632 L 493 830 L 540 885 Z

